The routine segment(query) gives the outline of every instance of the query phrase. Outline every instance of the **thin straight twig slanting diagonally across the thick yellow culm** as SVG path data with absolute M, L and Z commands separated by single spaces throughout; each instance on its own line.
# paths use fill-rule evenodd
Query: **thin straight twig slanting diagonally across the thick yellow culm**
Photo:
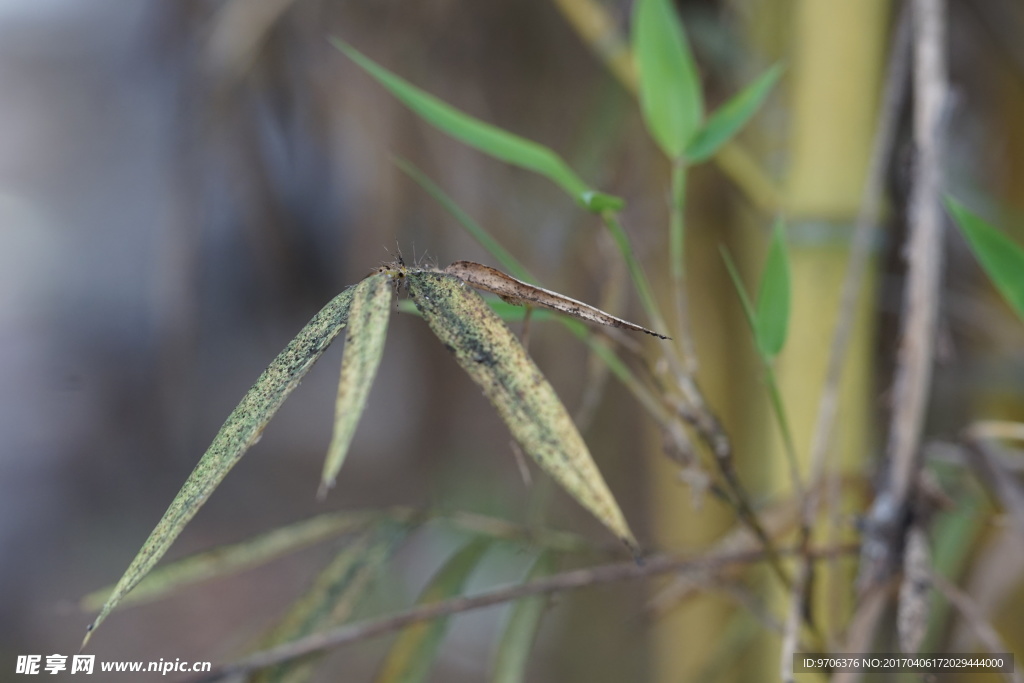
M 839 311 L 836 316 L 836 329 L 833 332 L 831 347 L 828 351 L 828 366 L 821 387 L 821 397 L 818 400 L 818 414 L 814 424 L 810 447 L 810 477 L 808 495 L 804 499 L 801 511 L 800 543 L 809 543 L 811 528 L 817 515 L 821 500 L 819 494 L 824 472 L 828 464 L 828 454 L 833 442 L 833 430 L 836 426 L 836 416 L 839 412 L 840 385 L 843 378 L 843 368 L 846 365 L 847 350 L 853 333 L 857 312 L 857 302 L 860 298 L 867 270 L 871 246 L 878 234 L 879 214 L 881 213 L 882 190 L 885 184 L 885 173 L 889 167 L 893 153 L 893 141 L 896 137 L 896 127 L 899 121 L 900 100 L 906 88 L 910 62 L 910 19 L 904 6 L 898 19 L 892 41 L 889 66 L 879 106 L 878 129 L 871 145 L 871 156 L 868 161 L 867 174 L 864 178 L 863 194 L 857 213 L 853 238 L 850 243 L 850 257 L 843 280 L 840 294 Z M 793 680 L 793 654 L 798 646 L 799 628 L 802 614 L 805 611 L 804 596 L 810 581 L 811 569 L 807 562 L 797 572 L 797 581 L 793 587 L 791 609 L 786 620 L 785 634 L 782 638 L 781 668 L 782 680 Z

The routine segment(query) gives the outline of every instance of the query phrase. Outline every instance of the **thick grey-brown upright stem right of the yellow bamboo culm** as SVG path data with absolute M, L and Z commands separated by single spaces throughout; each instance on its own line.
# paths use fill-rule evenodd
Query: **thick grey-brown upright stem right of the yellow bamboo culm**
M 858 578 L 861 590 L 883 581 L 896 564 L 921 469 L 919 446 L 932 379 L 942 262 L 941 122 L 948 89 L 944 12 L 942 0 L 913 2 L 913 137 L 918 155 L 908 207 L 905 313 L 893 386 L 887 480 L 866 520 Z

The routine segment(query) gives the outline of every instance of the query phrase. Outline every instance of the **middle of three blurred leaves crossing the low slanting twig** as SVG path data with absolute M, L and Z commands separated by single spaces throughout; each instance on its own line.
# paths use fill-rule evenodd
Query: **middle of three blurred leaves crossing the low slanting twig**
M 463 546 L 430 580 L 417 604 L 430 604 L 461 595 L 488 545 L 488 541 L 478 539 Z M 381 666 L 377 683 L 418 683 L 426 680 L 444 640 L 447 623 L 447 617 L 441 617 L 403 629 Z

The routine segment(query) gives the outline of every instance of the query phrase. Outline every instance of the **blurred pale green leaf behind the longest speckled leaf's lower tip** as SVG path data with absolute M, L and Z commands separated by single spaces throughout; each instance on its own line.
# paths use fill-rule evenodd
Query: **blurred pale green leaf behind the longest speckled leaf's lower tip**
M 124 597 L 121 605 L 153 602 L 182 588 L 266 564 L 321 541 L 358 529 L 378 517 L 377 513 L 368 512 L 331 512 L 241 543 L 189 555 L 151 571 Z M 79 605 L 83 611 L 95 611 L 103 606 L 113 590 L 111 585 L 93 591 L 83 597 Z

